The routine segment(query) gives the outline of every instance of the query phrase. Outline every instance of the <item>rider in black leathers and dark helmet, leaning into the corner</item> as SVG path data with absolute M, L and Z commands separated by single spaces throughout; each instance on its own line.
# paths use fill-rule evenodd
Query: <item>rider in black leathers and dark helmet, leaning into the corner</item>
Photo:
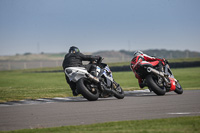
M 93 76 L 96 76 L 96 65 L 95 64 L 87 64 L 83 65 L 82 61 L 90 61 L 94 62 L 98 60 L 99 56 L 92 56 L 92 55 L 84 55 L 80 52 L 80 50 L 72 46 L 69 49 L 69 53 L 65 55 L 65 59 L 63 60 L 63 70 L 67 67 L 85 67 L 89 73 L 91 73 Z M 69 80 L 69 78 L 65 74 L 65 78 L 67 83 L 70 85 L 70 88 L 72 90 L 72 93 L 74 96 L 78 95 L 78 92 L 76 91 L 76 84 Z

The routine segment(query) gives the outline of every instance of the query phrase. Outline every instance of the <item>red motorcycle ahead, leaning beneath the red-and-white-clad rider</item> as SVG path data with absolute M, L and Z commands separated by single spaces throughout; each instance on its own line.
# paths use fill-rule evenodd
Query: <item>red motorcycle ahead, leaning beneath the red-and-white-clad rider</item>
M 162 62 L 163 71 L 159 71 L 154 63 L 138 60 L 137 63 L 131 63 L 131 69 L 137 73 L 143 80 L 143 84 L 157 95 L 165 95 L 166 92 L 174 91 L 182 94 L 183 89 L 172 74 L 168 61 Z

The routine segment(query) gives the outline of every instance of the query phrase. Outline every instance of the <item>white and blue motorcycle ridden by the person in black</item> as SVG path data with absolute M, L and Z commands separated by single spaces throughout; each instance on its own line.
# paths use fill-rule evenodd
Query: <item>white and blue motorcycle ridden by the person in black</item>
M 110 96 L 123 99 L 123 89 L 114 81 L 110 68 L 102 63 L 102 60 L 101 58 L 96 63 L 97 77 L 91 75 L 84 67 L 68 67 L 65 74 L 76 84 L 77 92 L 89 101 Z

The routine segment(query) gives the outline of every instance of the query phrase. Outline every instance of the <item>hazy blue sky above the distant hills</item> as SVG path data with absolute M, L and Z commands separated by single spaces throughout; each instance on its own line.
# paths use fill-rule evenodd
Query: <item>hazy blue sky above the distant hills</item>
M 200 52 L 200 0 L 0 0 L 0 55 Z

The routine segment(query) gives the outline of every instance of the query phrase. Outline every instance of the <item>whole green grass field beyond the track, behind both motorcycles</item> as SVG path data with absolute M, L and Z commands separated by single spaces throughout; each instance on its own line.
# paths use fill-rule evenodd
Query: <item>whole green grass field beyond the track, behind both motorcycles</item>
M 72 96 L 64 73 L 34 73 L 41 70 L 52 68 L 0 71 L 0 102 Z M 184 90 L 200 89 L 200 67 L 172 69 L 172 72 Z M 133 72 L 114 72 L 113 76 L 124 90 L 139 89 Z

